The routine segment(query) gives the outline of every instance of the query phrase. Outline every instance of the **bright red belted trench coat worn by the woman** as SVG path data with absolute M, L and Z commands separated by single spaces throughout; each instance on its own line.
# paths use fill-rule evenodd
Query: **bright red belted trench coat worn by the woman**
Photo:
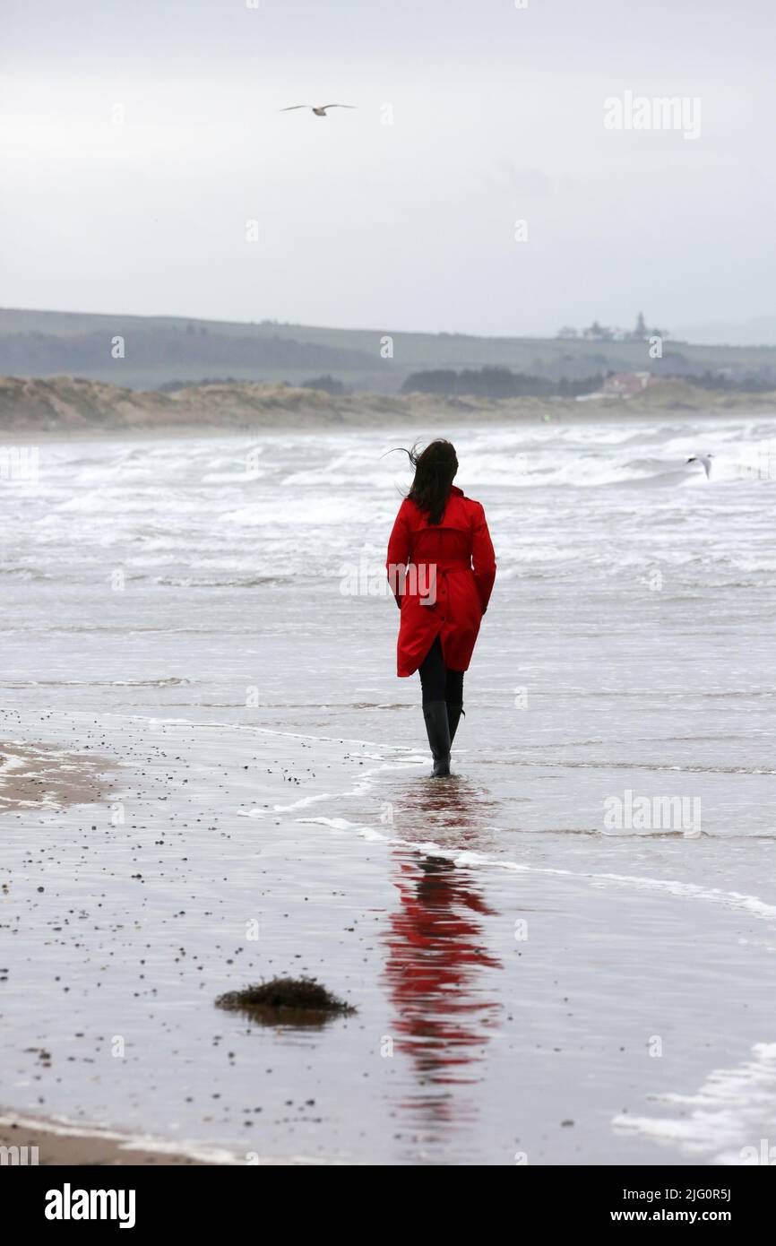
M 428 516 L 405 498 L 386 567 L 401 609 L 397 674 L 414 674 L 437 635 L 445 665 L 468 670 L 496 579 L 496 556 L 481 503 L 453 485 L 442 522 L 431 526 Z

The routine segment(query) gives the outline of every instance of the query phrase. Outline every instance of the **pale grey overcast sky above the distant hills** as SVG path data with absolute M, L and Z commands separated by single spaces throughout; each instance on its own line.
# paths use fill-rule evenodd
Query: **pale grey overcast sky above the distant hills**
M 772 0 L 1 12 L 5 307 L 481 334 L 774 315 Z M 700 97 L 700 137 L 604 128 L 625 91 Z M 357 111 L 278 112 L 333 100 Z

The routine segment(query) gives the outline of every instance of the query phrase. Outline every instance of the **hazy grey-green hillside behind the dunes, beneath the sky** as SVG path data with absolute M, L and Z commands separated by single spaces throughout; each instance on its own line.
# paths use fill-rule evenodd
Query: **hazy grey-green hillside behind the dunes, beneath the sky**
M 123 359 L 111 355 L 123 338 Z M 392 358 L 384 359 L 384 338 Z M 229 376 L 301 385 L 329 374 L 354 390 L 397 392 L 411 373 L 435 369 L 508 368 L 559 381 L 610 371 L 655 375 L 725 371 L 776 385 L 776 346 L 695 346 L 666 341 L 650 360 L 641 341 L 559 338 L 475 338 L 463 334 L 402 333 L 390 328 L 323 329 L 260 321 L 240 324 L 178 316 L 88 315 L 67 312 L 0 310 L 0 374 L 92 380 L 157 389 L 176 381 Z

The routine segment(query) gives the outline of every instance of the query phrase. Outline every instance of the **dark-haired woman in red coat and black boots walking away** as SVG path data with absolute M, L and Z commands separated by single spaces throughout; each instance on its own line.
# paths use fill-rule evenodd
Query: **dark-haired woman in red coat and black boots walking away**
M 480 502 L 453 485 L 450 441 L 432 441 L 415 467 L 387 548 L 389 582 L 401 611 L 397 674 L 420 670 L 432 778 L 450 774 L 450 746 L 463 713 L 468 669 L 493 581 L 496 556 Z

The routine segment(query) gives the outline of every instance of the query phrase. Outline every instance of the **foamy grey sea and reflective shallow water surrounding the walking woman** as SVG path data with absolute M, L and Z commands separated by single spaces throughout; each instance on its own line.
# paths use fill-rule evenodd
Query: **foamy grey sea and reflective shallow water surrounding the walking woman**
M 498 576 L 447 784 L 382 578 L 406 431 L 0 482 L 0 739 L 111 768 L 0 821 L 6 1109 L 243 1163 L 776 1144 L 776 417 L 450 435 Z M 357 1012 L 213 1007 L 280 972 Z

